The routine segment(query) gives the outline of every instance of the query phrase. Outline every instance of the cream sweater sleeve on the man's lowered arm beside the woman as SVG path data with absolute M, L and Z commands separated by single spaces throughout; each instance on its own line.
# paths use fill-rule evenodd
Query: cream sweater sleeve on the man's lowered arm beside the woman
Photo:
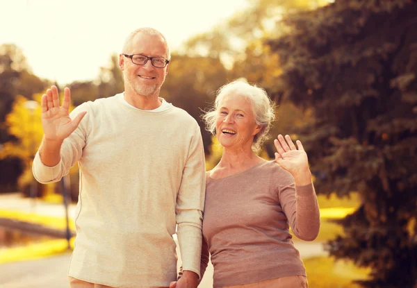
M 177 236 L 183 270 L 200 276 L 202 251 L 202 213 L 206 183 L 204 148 L 197 122 L 190 142 L 188 158 L 183 169 L 177 196 Z M 200 277 L 201 278 L 201 277 Z

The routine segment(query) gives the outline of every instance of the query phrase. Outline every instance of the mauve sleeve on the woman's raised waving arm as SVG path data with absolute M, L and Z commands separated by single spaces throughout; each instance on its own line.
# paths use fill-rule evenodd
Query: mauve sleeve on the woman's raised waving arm
M 295 236 L 304 241 L 316 239 L 320 230 L 320 210 L 313 183 L 295 187 L 290 173 L 279 173 L 279 201 Z

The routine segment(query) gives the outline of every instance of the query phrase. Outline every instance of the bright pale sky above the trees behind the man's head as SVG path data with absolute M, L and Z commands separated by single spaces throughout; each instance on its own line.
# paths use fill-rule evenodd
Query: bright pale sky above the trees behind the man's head
M 0 45 L 17 44 L 40 78 L 92 80 L 136 28 L 158 29 L 175 50 L 245 6 L 246 0 L 0 0 Z

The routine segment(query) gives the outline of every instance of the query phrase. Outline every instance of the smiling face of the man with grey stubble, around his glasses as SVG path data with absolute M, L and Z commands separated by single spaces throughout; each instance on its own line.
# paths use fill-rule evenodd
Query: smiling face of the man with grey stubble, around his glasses
M 168 59 L 167 44 L 159 35 L 137 33 L 126 54 L 141 54 L 148 57 L 163 57 Z M 148 60 L 145 65 L 133 64 L 130 58 L 120 54 L 120 69 L 123 71 L 124 87 L 126 91 L 133 91 L 141 96 L 158 96 L 165 76 L 168 72 L 168 65 L 164 68 L 156 68 Z

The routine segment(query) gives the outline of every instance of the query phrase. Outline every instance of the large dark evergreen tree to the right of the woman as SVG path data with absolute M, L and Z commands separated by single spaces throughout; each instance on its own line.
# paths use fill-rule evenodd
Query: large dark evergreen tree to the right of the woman
M 302 140 L 318 192 L 363 203 L 329 242 L 372 269 L 365 287 L 417 287 L 417 4 L 338 0 L 268 40 L 284 98 L 313 109 Z

